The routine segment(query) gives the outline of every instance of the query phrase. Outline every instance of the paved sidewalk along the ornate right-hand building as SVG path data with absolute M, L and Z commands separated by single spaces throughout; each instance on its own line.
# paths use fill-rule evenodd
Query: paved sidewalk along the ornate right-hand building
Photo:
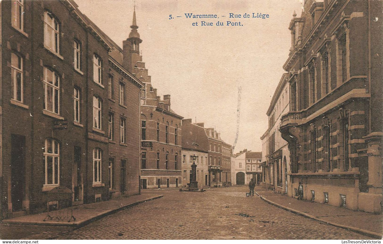
M 287 195 L 255 188 L 256 194 L 266 202 L 296 214 L 322 221 L 340 228 L 367 234 L 379 239 L 383 236 L 383 216 L 363 211 L 352 211 L 323 203 L 297 200 Z

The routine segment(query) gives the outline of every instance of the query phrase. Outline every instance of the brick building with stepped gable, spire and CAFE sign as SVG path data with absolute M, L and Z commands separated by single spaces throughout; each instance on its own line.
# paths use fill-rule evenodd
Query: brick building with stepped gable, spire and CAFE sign
M 140 184 L 141 189 L 178 187 L 182 181 L 181 121 L 183 117 L 170 108 L 170 95 L 162 100 L 153 88 L 151 76 L 140 55 L 142 42 L 137 31 L 136 11 L 128 39 L 123 42 L 124 67 L 144 83 L 140 95 Z

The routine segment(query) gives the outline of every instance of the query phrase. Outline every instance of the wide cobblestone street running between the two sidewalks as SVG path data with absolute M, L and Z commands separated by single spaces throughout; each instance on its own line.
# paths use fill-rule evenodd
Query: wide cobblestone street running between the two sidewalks
M 246 197 L 245 186 L 150 191 L 165 196 L 56 239 L 371 239 Z

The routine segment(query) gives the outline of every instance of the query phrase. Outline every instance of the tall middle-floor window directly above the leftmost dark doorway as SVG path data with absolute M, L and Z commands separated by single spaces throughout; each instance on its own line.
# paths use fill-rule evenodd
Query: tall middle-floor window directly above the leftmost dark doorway
M 14 53 L 11 53 L 11 72 L 12 99 L 15 99 L 19 102 L 23 102 L 23 58 Z

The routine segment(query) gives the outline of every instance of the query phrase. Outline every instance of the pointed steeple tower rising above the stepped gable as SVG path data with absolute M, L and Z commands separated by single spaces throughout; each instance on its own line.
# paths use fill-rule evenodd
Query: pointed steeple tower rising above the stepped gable
M 137 20 L 136 20 L 136 6 L 134 6 L 133 11 L 133 22 L 130 26 L 132 29 L 129 33 L 128 39 L 123 41 L 123 54 L 124 54 L 124 67 L 133 73 L 133 68 L 136 65 L 137 61 L 140 61 L 140 34 L 137 29 Z

